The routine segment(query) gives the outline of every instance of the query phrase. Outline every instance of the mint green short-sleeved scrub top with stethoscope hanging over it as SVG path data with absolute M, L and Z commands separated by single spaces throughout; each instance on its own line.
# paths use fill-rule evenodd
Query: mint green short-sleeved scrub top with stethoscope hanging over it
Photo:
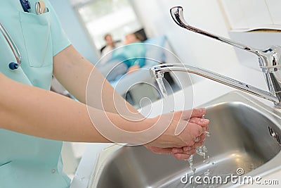
M 1 0 L 0 21 L 20 50 L 22 66 L 8 68 L 15 57 L 0 33 L 0 72 L 18 82 L 50 89 L 53 56 L 70 41 L 49 1 L 45 0 L 49 12 L 42 15 L 35 13 L 35 2 L 30 0 L 32 10 L 25 13 L 19 0 Z M 15 95 L 25 100 L 20 93 Z M 70 187 L 63 173 L 61 147 L 62 142 L 0 129 L 0 188 Z

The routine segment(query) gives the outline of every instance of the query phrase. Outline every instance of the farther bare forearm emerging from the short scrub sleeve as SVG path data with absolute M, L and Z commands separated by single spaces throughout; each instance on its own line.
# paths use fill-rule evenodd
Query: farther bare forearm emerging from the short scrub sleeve
M 122 96 L 112 88 L 93 64 L 83 58 L 73 46 L 69 46 L 54 57 L 53 73 L 58 81 L 79 101 L 98 109 L 119 113 L 116 106 L 122 106 L 122 114 L 137 113 Z M 91 77 L 90 77 L 91 75 Z M 89 78 L 91 78 L 89 84 Z M 88 89 L 86 90 L 88 84 Z M 86 94 L 88 100 L 86 100 Z M 129 111 L 126 108 L 129 109 Z

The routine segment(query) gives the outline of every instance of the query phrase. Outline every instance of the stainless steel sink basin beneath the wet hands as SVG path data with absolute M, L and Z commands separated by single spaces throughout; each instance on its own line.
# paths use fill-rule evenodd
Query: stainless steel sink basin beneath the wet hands
M 230 92 L 202 106 L 207 106 L 206 117 L 210 120 L 211 137 L 205 142 L 209 163 L 203 163 L 202 156 L 195 154 L 195 176 L 203 176 L 208 170 L 209 177 L 226 177 L 237 175 L 240 168 L 243 175 L 262 177 L 280 170 L 278 111 L 242 92 Z M 185 175 L 193 175 L 188 161 L 155 154 L 143 146 L 120 146 L 96 169 L 89 187 L 193 187 L 194 184 L 181 182 Z

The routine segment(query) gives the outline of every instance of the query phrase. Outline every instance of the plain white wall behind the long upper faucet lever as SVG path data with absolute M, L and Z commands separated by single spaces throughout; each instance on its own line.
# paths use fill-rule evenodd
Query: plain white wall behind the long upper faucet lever
M 149 35 L 167 35 L 183 63 L 217 73 L 223 73 L 228 65 L 238 63 L 232 46 L 178 27 L 169 13 L 171 7 L 183 6 L 185 20 L 190 25 L 228 37 L 228 28 L 217 0 L 132 0 L 132 3 Z

